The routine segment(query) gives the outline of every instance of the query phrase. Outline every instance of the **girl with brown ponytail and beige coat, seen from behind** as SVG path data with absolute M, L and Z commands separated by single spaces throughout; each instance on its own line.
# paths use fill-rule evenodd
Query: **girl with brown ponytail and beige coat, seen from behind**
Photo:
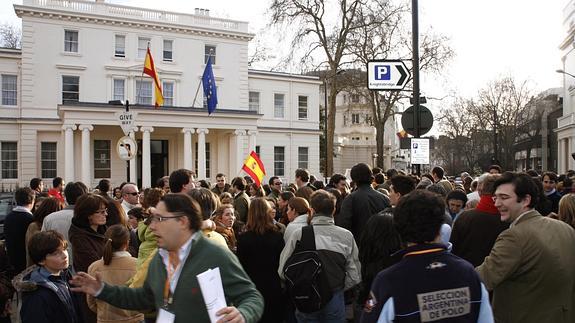
M 106 230 L 105 237 L 108 240 L 104 246 L 104 255 L 102 259 L 90 265 L 88 274 L 92 276 L 99 274 L 101 280 L 109 285 L 126 285 L 136 273 L 137 261 L 127 252 L 130 232 L 126 226 L 116 224 Z M 144 320 L 144 315 L 139 312 L 119 309 L 90 295 L 87 297 L 88 306 L 97 313 L 98 323 L 117 321 L 139 323 Z

